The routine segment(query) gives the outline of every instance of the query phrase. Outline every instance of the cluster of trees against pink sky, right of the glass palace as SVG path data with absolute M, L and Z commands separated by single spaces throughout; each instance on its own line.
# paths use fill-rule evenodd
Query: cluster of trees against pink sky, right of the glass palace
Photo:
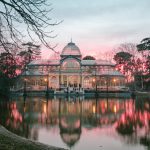
M 116 69 L 125 75 L 130 88 L 150 90 L 150 38 L 137 45 L 121 44 L 115 51 Z

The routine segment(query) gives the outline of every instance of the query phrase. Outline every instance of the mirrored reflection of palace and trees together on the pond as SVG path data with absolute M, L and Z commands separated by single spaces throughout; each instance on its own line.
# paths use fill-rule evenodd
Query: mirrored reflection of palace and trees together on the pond
M 6 106 L 10 110 L 2 112 L 0 109 L 0 118 L 3 118 L 0 122 L 9 130 L 12 128 L 12 131 L 19 135 L 37 140 L 38 129 L 44 127 L 48 131 L 58 126 L 62 141 L 69 147 L 80 140 L 83 128 L 91 130 L 95 127 L 115 125 L 120 134 L 129 135 L 136 132 L 139 138 L 144 136 L 148 138 L 150 134 L 149 101 L 123 99 L 46 101 L 27 98 L 24 104 L 17 101 Z M 142 132 L 137 132 L 139 130 Z

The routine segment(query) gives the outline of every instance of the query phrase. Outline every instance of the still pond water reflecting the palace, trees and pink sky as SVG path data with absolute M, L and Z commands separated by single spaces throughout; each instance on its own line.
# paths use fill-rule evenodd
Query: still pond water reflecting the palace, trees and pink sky
M 150 99 L 17 98 L 0 101 L 11 132 L 72 150 L 149 150 Z

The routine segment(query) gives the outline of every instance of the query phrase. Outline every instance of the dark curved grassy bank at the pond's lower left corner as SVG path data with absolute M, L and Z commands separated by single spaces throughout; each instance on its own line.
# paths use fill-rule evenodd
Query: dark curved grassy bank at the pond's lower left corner
M 65 150 L 19 137 L 0 125 L 0 150 Z

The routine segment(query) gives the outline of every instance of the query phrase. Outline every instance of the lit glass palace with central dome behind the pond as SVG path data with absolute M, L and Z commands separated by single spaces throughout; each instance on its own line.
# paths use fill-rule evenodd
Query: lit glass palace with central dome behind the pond
M 125 91 L 125 78 L 109 61 L 92 56 L 82 58 L 75 43 L 68 43 L 60 60 L 35 60 L 28 64 L 22 79 L 28 90 L 64 89 L 82 92 L 83 89 Z M 17 89 L 23 84 L 19 82 Z

